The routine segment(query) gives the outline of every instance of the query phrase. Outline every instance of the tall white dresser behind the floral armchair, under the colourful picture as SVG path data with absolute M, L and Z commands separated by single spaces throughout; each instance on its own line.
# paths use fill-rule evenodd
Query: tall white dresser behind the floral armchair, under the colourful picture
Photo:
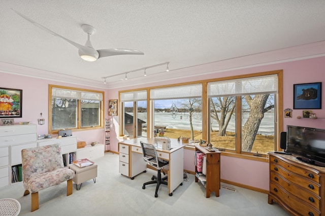
M 12 184 L 12 167 L 21 164 L 21 150 L 37 147 L 36 124 L 0 126 L 0 187 Z

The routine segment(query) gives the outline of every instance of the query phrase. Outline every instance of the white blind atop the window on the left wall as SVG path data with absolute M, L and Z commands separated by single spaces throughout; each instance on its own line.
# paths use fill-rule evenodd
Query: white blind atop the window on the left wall
M 70 98 L 77 100 L 103 101 L 103 94 L 96 92 L 86 92 L 71 89 L 52 88 L 53 98 Z

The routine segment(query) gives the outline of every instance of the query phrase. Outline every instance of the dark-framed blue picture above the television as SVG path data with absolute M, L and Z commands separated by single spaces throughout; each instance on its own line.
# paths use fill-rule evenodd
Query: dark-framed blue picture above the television
M 294 109 L 321 109 L 321 82 L 294 84 Z

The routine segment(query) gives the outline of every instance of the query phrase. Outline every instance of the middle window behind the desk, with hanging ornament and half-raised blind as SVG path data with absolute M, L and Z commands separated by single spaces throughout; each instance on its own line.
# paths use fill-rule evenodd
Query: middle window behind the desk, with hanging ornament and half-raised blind
M 153 136 L 202 139 L 202 84 L 152 89 Z

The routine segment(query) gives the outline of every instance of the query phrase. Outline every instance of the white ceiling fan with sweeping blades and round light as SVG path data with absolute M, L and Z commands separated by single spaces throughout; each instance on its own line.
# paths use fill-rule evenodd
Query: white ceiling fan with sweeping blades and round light
M 84 32 L 87 33 L 88 38 L 86 41 L 85 46 L 77 44 L 76 42 L 69 40 L 66 37 L 63 37 L 53 31 L 51 31 L 50 29 L 44 27 L 43 25 L 35 22 L 34 20 L 29 19 L 28 17 L 26 17 L 25 15 L 19 13 L 18 11 L 15 11 L 14 9 L 12 9 L 15 13 L 17 13 L 19 16 L 21 16 L 22 18 L 24 18 L 25 20 L 27 20 L 28 22 L 36 25 L 37 27 L 47 31 L 50 34 L 53 34 L 54 36 L 58 36 L 61 37 L 62 39 L 68 41 L 70 44 L 72 44 L 73 46 L 75 46 L 76 48 L 78 48 L 78 53 L 79 56 L 85 60 L 85 61 L 96 61 L 99 58 L 103 58 L 103 57 L 107 57 L 107 56 L 116 56 L 116 55 L 144 55 L 143 52 L 139 51 L 139 50 L 131 50 L 131 49 L 104 49 L 104 50 L 95 50 L 90 42 L 90 35 L 95 33 L 95 29 L 90 26 L 90 25 L 82 25 L 81 28 L 84 30 Z

